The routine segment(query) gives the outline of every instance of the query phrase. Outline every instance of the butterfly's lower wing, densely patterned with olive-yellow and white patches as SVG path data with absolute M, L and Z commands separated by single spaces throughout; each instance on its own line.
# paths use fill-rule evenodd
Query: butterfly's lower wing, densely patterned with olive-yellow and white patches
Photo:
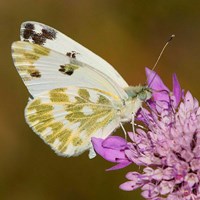
M 119 126 L 120 99 L 99 89 L 68 87 L 30 100 L 30 127 L 61 156 L 78 156 L 92 148 L 91 137 L 106 138 Z

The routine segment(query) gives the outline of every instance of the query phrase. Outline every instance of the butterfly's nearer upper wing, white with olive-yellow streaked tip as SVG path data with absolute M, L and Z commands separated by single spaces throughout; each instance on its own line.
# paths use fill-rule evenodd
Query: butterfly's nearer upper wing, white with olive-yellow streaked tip
M 49 48 L 30 42 L 14 42 L 15 66 L 33 97 L 60 87 L 80 86 L 109 91 L 121 98 L 127 94 L 97 69 Z

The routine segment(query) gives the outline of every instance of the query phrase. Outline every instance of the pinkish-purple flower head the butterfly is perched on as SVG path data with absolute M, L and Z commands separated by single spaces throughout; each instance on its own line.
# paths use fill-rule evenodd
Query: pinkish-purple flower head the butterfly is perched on
M 144 128 L 129 133 L 124 157 L 142 166 L 129 172 L 126 191 L 142 189 L 152 200 L 200 199 L 200 107 L 190 92 L 183 94 L 176 75 L 170 91 L 155 72 L 146 69 L 153 98 L 137 120 Z M 152 81 L 152 77 L 155 77 Z

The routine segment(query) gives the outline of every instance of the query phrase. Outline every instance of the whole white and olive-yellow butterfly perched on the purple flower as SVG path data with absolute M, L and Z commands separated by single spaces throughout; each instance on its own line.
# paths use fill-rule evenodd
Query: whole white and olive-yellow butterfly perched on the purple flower
M 58 155 L 90 150 L 93 157 L 91 137 L 108 137 L 152 96 L 148 86 L 129 86 L 109 63 L 54 28 L 24 22 L 20 39 L 12 57 L 30 93 L 25 119 Z

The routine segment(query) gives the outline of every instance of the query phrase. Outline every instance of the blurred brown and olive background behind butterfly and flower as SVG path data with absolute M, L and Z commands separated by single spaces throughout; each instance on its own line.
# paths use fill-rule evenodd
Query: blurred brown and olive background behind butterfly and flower
M 172 73 L 200 99 L 200 2 L 188 0 L 0 0 L 0 199 L 142 199 L 118 186 L 137 167 L 105 172 L 112 164 L 87 153 L 62 158 L 24 120 L 28 92 L 13 66 L 10 45 L 23 21 L 62 31 L 105 58 L 130 85 L 144 83 L 166 40 L 157 72 L 171 87 Z M 121 130 L 118 131 L 119 134 Z

